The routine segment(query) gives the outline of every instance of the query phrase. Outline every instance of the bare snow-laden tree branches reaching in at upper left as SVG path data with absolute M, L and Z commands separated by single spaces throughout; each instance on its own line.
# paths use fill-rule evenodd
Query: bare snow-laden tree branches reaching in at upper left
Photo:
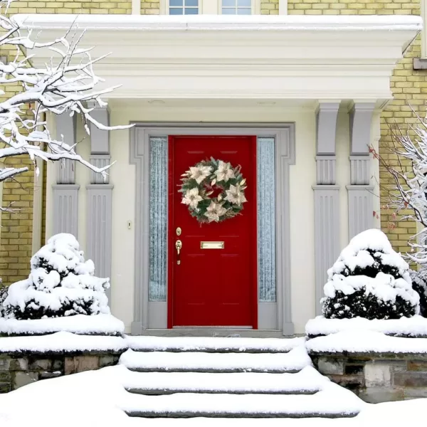
M 84 31 L 68 31 L 63 37 L 38 43 L 37 34 L 7 16 L 7 8 L 14 0 L 0 0 L 0 49 L 12 48 L 9 62 L 0 59 L 0 88 L 19 86 L 19 93 L 0 102 L 0 159 L 26 154 L 37 170 L 37 159 L 44 161 L 75 160 L 94 172 L 107 176 L 107 167 L 95 167 L 75 152 L 75 147 L 63 139 L 53 139 L 46 126 L 46 113 L 80 115 L 89 133 L 91 123 L 101 130 L 127 129 L 125 126 L 105 126 L 92 116 L 93 105 L 105 107 L 102 95 L 116 87 L 98 89 L 103 80 L 93 65 L 105 58 L 92 58 L 91 49 L 79 48 Z M 34 68 L 31 59 L 38 49 L 48 48 L 52 58 L 44 68 Z M 55 56 L 56 60 L 53 60 Z M 0 89 L 0 95 L 8 93 Z M 88 107 L 88 104 L 90 107 Z M 29 110 L 28 110 L 29 108 Z M 47 147 L 47 150 L 43 150 Z M 26 172 L 28 167 L 0 167 L 0 181 Z

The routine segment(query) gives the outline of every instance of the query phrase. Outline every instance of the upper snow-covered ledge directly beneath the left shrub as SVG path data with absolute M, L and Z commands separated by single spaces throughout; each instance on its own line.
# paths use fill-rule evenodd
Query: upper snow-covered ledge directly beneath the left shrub
M 0 318 L 0 334 L 40 335 L 52 332 L 73 332 L 74 334 L 115 334 L 122 335 L 125 325 L 112 315 L 75 315 L 49 317 L 38 320 L 16 320 Z

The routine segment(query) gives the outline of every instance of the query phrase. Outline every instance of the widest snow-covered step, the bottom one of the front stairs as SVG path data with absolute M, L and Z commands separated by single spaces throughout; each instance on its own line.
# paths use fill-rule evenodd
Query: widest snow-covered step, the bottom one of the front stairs
M 334 386 L 335 384 L 331 384 Z M 130 416 L 230 417 L 230 418 L 308 418 L 356 416 L 362 401 L 353 394 L 327 389 L 312 395 L 279 394 L 169 394 L 144 396 L 129 394 L 120 406 Z M 347 390 L 348 391 L 348 390 Z M 352 394 L 349 391 L 349 394 Z M 343 396 L 344 395 L 344 396 Z

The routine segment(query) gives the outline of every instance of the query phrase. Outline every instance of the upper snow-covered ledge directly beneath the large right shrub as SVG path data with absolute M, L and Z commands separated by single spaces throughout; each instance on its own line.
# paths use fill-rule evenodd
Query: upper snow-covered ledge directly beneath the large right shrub
M 401 317 L 398 320 L 368 320 L 362 317 L 354 319 L 325 319 L 317 316 L 305 325 L 305 333 L 309 336 L 334 334 L 349 330 L 365 330 L 383 332 L 387 335 L 407 335 L 427 337 L 427 318 L 421 316 Z

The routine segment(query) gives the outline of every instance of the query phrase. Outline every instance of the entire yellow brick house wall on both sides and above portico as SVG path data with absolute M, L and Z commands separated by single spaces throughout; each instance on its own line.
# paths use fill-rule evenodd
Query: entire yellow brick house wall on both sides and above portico
M 261 0 L 261 14 L 278 14 L 278 0 Z M 51 13 L 51 14 L 131 14 L 131 0 L 90 0 L 90 1 L 15 1 L 10 8 L 11 14 L 16 13 Z M 142 14 L 159 14 L 159 0 L 142 0 Z M 370 15 L 370 14 L 420 14 L 420 0 L 288 0 L 289 14 L 306 15 Z M 0 55 L 4 55 L 0 52 Z M 419 38 L 406 52 L 405 58 L 399 62 L 391 78 L 391 89 L 394 100 L 381 116 L 380 154 L 393 164 L 396 159 L 387 152 L 392 143 L 390 126 L 396 122 L 399 127 L 407 127 L 416 122 L 410 105 L 425 113 L 427 96 L 427 72 L 416 72 L 412 69 L 412 58 L 421 54 Z M 12 93 L 17 88 L 6 88 Z M 13 162 L 30 163 L 28 159 L 6 159 L 6 164 Z M 46 169 L 45 169 L 46 170 Z M 380 173 L 381 193 L 385 197 L 387 189 L 393 186 L 390 177 Z M 46 176 L 43 176 L 46 182 Z M 33 206 L 33 170 L 22 174 L 16 181 L 4 183 L 3 206 L 14 202 L 14 207 L 21 208 L 16 214 L 2 214 L 0 230 L 0 277 L 4 283 L 25 278 L 31 257 L 32 206 Z M 385 205 L 385 200 L 381 203 Z M 46 195 L 43 199 L 43 218 L 45 215 Z M 391 243 L 398 251 L 408 251 L 408 238 L 415 233 L 413 223 L 404 223 L 395 218 L 393 213 L 384 206 L 381 210 L 381 227 L 388 234 Z M 42 234 L 44 236 L 44 221 Z M 43 237 L 44 238 L 44 237 Z

